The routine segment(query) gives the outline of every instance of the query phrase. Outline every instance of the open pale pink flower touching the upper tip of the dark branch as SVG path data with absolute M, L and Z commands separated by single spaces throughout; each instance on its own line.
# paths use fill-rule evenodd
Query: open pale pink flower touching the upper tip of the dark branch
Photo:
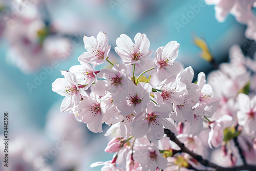
M 164 128 L 170 129 L 174 125 L 174 121 L 169 118 L 170 112 L 168 105 L 156 106 L 153 102 L 149 103 L 143 113 L 135 116 L 132 136 L 141 138 L 147 135 L 152 142 L 162 139 Z

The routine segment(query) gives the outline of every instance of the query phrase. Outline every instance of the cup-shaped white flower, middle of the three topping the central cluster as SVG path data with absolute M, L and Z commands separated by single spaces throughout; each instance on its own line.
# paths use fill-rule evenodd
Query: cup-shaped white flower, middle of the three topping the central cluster
M 132 39 L 125 34 L 121 34 L 120 37 L 116 39 L 117 47 L 115 47 L 115 51 L 121 57 L 125 65 L 140 64 L 140 62 L 153 52 L 152 50 L 148 50 L 150 48 L 150 41 L 145 34 L 136 34 L 134 40 L 135 44 Z

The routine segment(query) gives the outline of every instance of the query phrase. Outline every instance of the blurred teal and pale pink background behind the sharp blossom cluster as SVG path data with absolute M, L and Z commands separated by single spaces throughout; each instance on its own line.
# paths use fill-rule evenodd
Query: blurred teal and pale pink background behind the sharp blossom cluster
M 214 6 L 198 0 L 0 0 L 0 133 L 8 112 L 10 170 L 100 170 L 90 164 L 112 159 L 104 153 L 108 126 L 104 133 L 90 133 L 73 115 L 59 112 L 63 96 L 52 91 L 52 82 L 62 77 L 59 70 L 79 65 L 84 35 L 105 32 L 112 61 L 118 60 L 114 47 L 120 34 L 133 39 L 145 33 L 154 52 L 176 40 L 176 60 L 197 75 L 214 67 L 200 58 L 196 36 L 220 63 L 227 61 L 233 44 L 250 44 L 245 29 L 232 15 L 219 23 Z

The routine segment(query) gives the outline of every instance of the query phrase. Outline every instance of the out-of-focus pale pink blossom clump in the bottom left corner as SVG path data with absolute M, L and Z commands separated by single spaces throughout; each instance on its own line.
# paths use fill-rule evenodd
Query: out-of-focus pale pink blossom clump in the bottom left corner
M 4 139 L 4 136 L 1 136 Z M 53 171 L 49 165 L 50 159 L 45 153 L 49 153 L 51 144 L 47 139 L 37 131 L 21 131 L 10 136 L 9 144 L 9 161 L 8 168 L 13 171 L 26 171 L 40 169 L 43 171 Z M 4 144 L 1 143 L 1 149 Z M 4 151 L 0 156 L 5 155 Z M 3 163 L 0 165 L 1 170 L 5 170 Z

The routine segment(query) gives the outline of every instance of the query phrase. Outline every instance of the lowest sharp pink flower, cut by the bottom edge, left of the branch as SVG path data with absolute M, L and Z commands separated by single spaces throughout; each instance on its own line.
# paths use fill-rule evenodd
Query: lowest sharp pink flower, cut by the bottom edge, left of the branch
M 163 158 L 156 146 L 143 146 L 135 151 L 134 160 L 142 165 L 142 171 L 154 171 L 156 168 L 164 169 L 167 159 Z

